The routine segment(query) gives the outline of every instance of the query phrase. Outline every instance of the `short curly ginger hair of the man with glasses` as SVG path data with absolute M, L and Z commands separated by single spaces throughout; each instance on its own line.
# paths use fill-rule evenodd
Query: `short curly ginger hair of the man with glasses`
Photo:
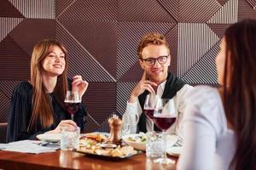
M 170 48 L 168 42 L 166 42 L 166 37 L 160 33 L 152 32 L 144 36 L 141 41 L 139 42 L 139 46 L 137 48 L 137 55 L 140 59 L 143 59 L 142 53 L 143 48 L 147 47 L 148 45 L 165 45 L 170 53 Z

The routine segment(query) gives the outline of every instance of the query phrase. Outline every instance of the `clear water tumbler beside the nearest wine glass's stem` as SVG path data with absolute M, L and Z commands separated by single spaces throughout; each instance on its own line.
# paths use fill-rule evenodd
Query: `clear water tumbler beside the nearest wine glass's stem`
M 164 139 L 162 133 L 147 133 L 146 156 L 149 158 L 163 157 L 165 154 Z

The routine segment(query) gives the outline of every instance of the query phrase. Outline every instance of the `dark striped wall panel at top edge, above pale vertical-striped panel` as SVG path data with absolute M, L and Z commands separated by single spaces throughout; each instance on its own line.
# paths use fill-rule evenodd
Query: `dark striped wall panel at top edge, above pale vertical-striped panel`
M 206 22 L 215 14 L 221 5 L 216 0 L 208 1 L 179 1 L 179 22 Z M 195 12 L 196 11 L 196 12 Z

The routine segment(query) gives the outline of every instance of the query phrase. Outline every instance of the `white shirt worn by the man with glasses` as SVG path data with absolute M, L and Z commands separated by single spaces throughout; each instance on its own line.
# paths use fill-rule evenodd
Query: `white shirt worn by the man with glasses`
M 162 82 L 158 86 L 156 94 L 159 96 L 162 96 L 162 94 L 164 93 L 165 86 L 166 86 L 166 82 Z M 172 127 L 170 127 L 167 130 L 167 133 L 176 134 L 178 137 L 180 137 L 180 139 L 183 138 L 182 123 L 180 122 L 182 120 L 183 109 L 185 104 L 184 96 L 191 89 L 193 89 L 192 86 L 185 84 L 183 88 L 177 91 L 177 94 L 172 98 L 174 99 L 174 102 L 177 105 L 178 116 L 177 116 L 177 122 L 173 123 Z M 127 102 L 126 111 L 125 111 L 125 114 L 123 115 L 123 124 L 130 124 L 132 127 L 137 127 L 137 123 L 139 121 L 141 114 L 143 114 L 143 109 L 138 99 L 134 103 Z M 146 127 L 148 132 L 152 130 L 151 128 L 152 124 L 151 124 L 151 121 L 148 119 L 148 117 L 146 118 Z M 131 133 L 136 133 L 136 128 L 132 128 Z

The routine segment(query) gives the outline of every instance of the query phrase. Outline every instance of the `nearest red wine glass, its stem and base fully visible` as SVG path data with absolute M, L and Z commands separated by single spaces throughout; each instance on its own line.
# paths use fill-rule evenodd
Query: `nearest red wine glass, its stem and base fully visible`
M 165 156 L 163 158 L 156 159 L 154 162 L 161 164 L 170 164 L 175 163 L 170 158 L 166 156 L 166 136 L 167 129 L 176 122 L 177 118 L 177 109 L 173 99 L 160 99 L 157 102 L 156 109 L 154 110 L 154 122 L 157 127 L 163 131 L 164 137 L 164 150 Z

